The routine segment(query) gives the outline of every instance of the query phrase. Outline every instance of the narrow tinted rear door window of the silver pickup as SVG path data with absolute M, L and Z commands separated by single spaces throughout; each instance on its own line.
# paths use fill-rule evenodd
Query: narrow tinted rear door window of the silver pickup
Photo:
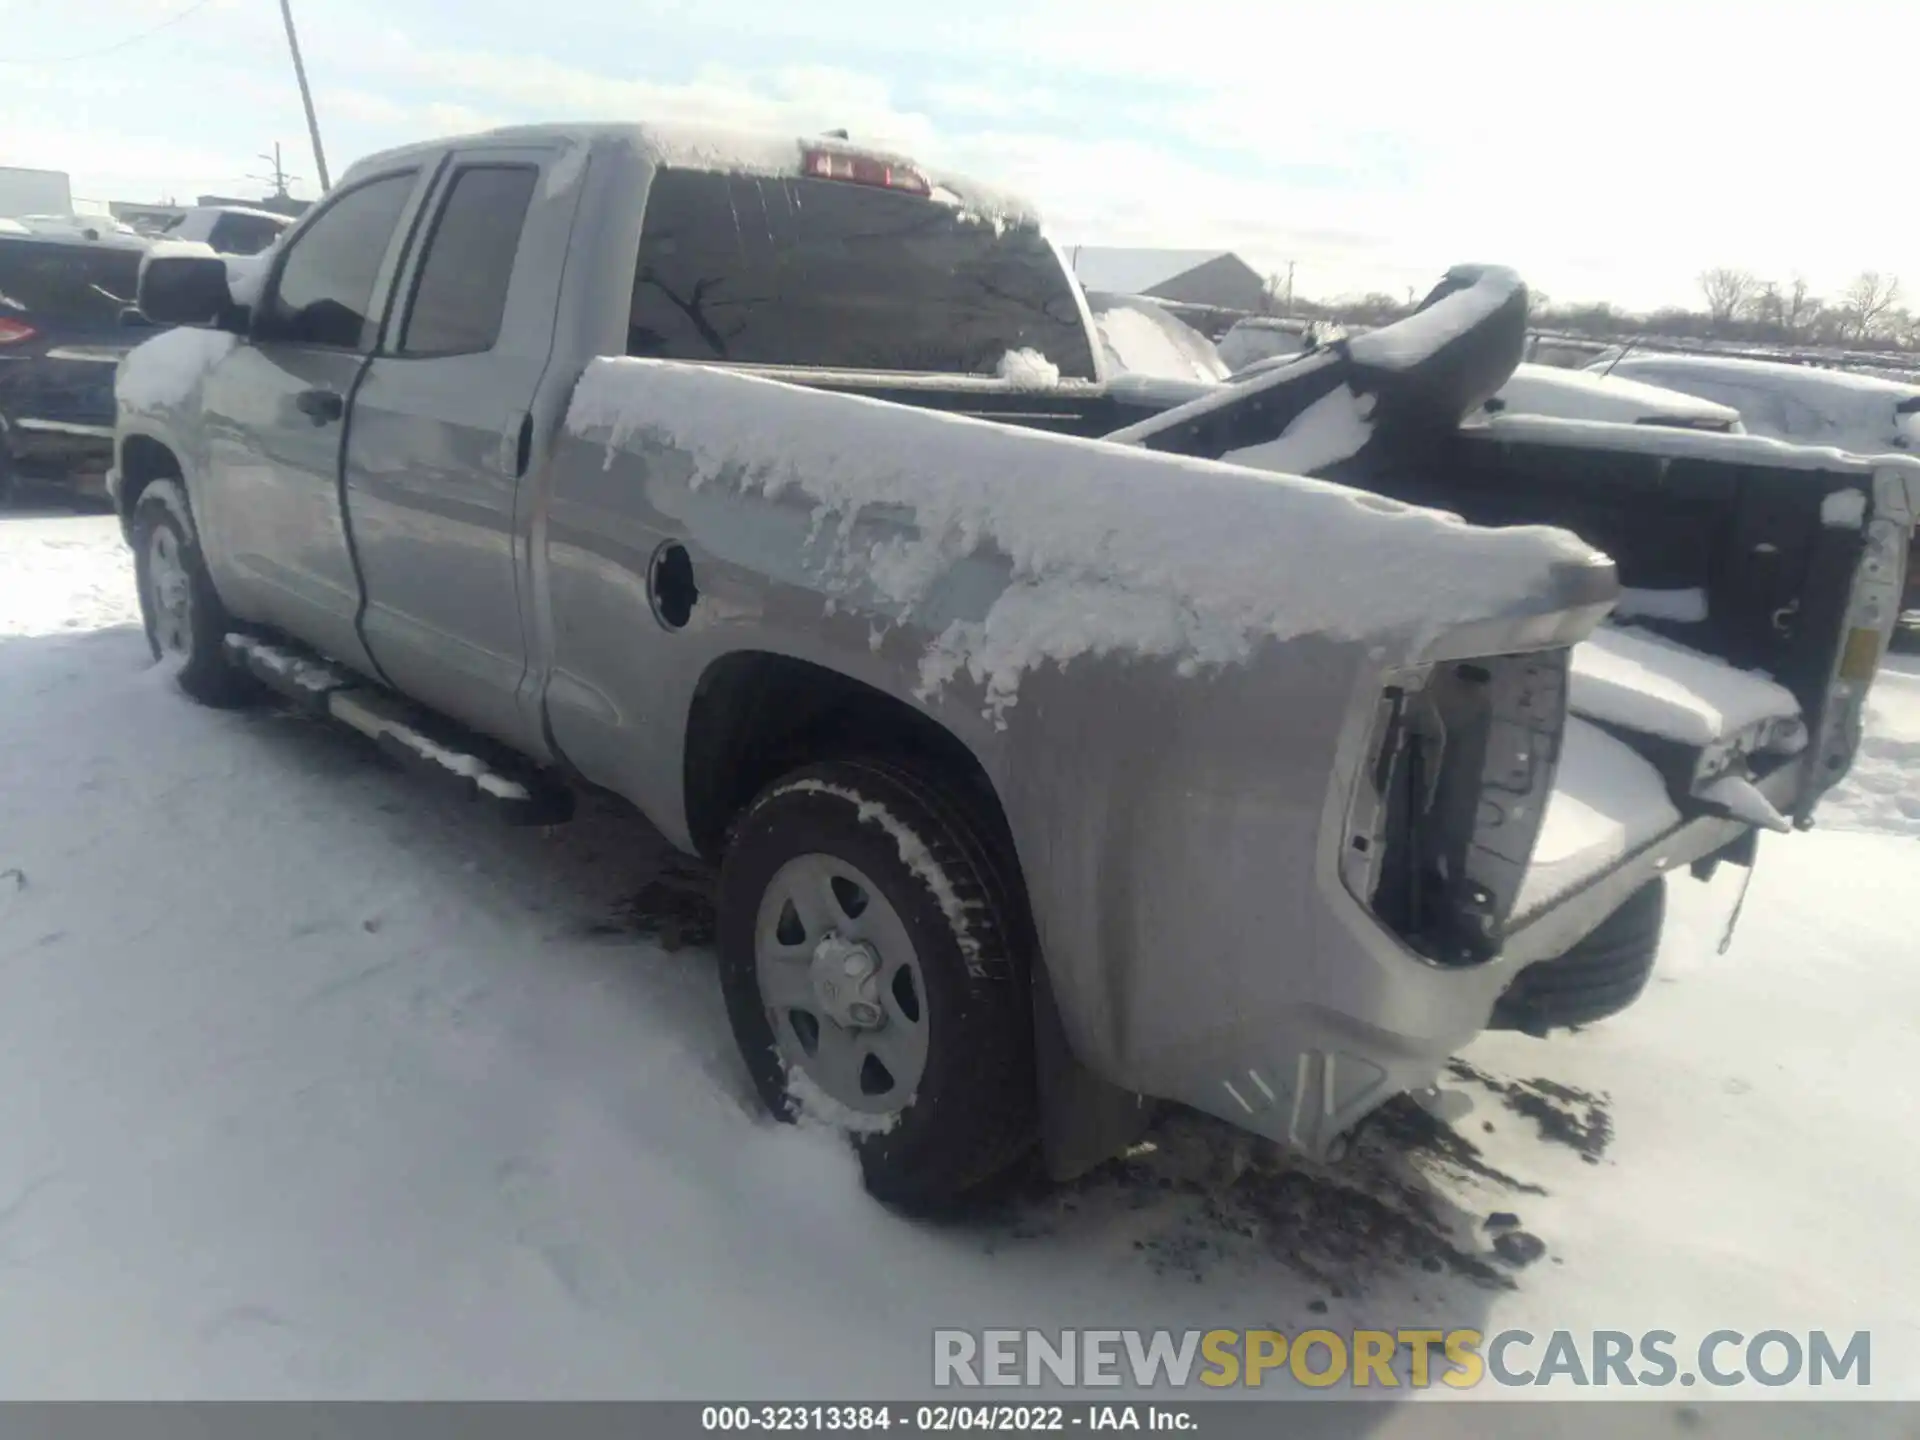
M 474 355 L 493 348 L 536 179 L 532 165 L 472 165 L 453 177 L 420 261 L 401 353 Z

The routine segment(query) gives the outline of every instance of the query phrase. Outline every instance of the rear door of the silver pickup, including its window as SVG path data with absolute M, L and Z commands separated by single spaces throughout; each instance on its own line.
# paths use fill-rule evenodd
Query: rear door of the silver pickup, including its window
M 582 186 L 563 150 L 455 150 L 353 399 L 348 522 L 361 634 L 407 695 L 543 755 L 522 707 L 522 478 L 545 445 L 553 321 Z M 541 399 L 549 403 L 541 403 Z M 564 399 L 564 397 L 563 397 Z

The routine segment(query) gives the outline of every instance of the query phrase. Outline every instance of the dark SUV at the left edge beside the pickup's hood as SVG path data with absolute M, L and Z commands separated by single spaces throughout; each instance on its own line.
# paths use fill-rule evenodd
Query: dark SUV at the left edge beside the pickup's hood
M 0 499 L 27 482 L 106 493 L 113 371 L 150 338 L 127 328 L 144 246 L 0 234 Z

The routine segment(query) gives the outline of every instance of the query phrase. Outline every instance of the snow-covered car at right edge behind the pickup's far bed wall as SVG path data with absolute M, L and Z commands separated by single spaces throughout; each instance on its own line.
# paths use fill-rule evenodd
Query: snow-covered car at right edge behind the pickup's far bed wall
M 1730 405 L 1745 428 L 1855 455 L 1920 455 L 1920 384 L 1822 365 L 1615 351 L 1590 367 Z M 1901 611 L 1920 634 L 1920 547 L 1908 553 Z

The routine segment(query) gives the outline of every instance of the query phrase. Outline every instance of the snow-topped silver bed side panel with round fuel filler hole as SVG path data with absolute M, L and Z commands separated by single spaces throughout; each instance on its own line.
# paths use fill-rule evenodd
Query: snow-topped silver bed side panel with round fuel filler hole
M 1413 960 L 1344 893 L 1329 833 L 1384 668 L 1459 636 L 1567 643 L 1596 564 L 1611 597 L 1571 536 L 653 361 L 589 369 L 547 490 L 555 745 L 678 843 L 701 676 L 785 655 L 979 760 L 1096 1073 L 1219 1110 L 1236 1056 L 1271 1114 L 1233 1117 L 1279 1133 L 1308 1091 L 1317 1116 L 1365 1108 L 1484 1023 L 1501 966 Z M 701 591 L 678 632 L 647 584 L 668 541 Z M 1405 589 L 1336 584 L 1382 545 Z M 1331 1039 L 1340 1016 L 1398 1037 Z

